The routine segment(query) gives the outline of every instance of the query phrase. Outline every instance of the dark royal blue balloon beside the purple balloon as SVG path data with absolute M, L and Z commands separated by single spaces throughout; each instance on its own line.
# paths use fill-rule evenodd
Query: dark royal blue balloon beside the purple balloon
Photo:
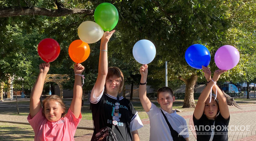
M 210 64 L 211 55 L 204 45 L 194 44 L 186 50 L 185 59 L 192 68 L 202 69 L 202 65 L 207 67 Z

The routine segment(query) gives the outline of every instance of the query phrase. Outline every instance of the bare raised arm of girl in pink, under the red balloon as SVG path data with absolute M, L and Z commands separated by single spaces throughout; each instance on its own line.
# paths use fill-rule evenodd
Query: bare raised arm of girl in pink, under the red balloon
M 49 69 L 50 69 L 50 63 L 41 63 L 39 65 L 39 74 L 33 86 L 31 96 L 30 96 L 29 112 L 30 112 L 31 119 L 37 114 L 37 112 L 41 108 L 40 96 L 42 94 L 43 87 L 44 87 L 44 80 Z

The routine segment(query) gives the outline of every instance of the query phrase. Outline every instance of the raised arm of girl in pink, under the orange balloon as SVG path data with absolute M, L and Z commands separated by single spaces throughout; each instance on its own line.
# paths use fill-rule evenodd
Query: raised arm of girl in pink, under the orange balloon
M 84 71 L 84 66 L 81 64 L 75 64 L 74 65 L 74 72 L 75 74 L 82 74 Z M 81 82 L 81 76 L 75 75 L 75 83 L 74 83 L 74 89 L 73 89 L 73 99 L 70 104 L 70 110 L 74 113 L 76 118 L 79 118 L 80 112 L 81 112 L 81 104 L 82 104 L 82 82 Z

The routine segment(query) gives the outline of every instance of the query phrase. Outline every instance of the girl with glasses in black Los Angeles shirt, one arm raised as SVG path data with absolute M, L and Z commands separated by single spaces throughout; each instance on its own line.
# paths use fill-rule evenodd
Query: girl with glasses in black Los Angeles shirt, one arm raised
M 139 141 L 138 129 L 143 124 L 132 103 L 118 96 L 123 91 L 122 71 L 117 67 L 108 68 L 107 44 L 115 30 L 105 32 L 101 38 L 98 77 L 91 93 L 94 133 L 91 141 L 96 141 L 96 133 L 103 127 L 114 128 L 118 141 Z

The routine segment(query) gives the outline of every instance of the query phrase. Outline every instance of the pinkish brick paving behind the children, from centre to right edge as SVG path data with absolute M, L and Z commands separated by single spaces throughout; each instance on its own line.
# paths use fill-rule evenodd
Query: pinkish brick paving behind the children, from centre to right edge
M 256 104 L 249 104 L 249 105 L 241 105 L 243 110 L 240 110 L 234 106 L 229 106 L 230 111 L 230 121 L 229 121 L 229 132 L 228 137 L 229 141 L 256 141 Z M 178 113 L 182 116 L 186 121 L 188 126 L 193 126 L 193 111 L 190 112 L 180 112 Z M 148 141 L 149 140 L 149 119 L 143 119 L 142 123 L 144 125 L 143 128 L 139 129 L 139 136 L 141 141 Z M 235 129 L 235 126 L 238 129 Z M 246 131 L 246 126 L 248 126 L 249 130 Z M 240 130 L 241 128 L 242 130 Z M 189 140 L 196 141 L 196 134 L 189 128 Z M 90 141 L 91 135 L 85 135 L 82 137 L 76 137 L 76 141 L 84 140 Z

